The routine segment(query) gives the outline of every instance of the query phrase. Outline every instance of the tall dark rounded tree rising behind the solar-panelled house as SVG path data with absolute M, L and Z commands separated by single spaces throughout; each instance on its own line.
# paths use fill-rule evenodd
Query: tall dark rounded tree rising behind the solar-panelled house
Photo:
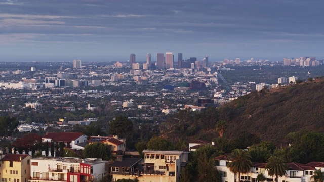
M 126 138 L 133 131 L 133 123 L 124 116 L 116 116 L 115 120 L 110 122 L 110 134 Z

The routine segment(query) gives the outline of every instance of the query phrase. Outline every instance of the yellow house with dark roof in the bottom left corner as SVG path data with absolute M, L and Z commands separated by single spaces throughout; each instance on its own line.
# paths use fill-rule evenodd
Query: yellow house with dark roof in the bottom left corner
M 6 154 L 0 161 L 3 182 L 27 182 L 30 179 L 30 160 L 27 154 Z

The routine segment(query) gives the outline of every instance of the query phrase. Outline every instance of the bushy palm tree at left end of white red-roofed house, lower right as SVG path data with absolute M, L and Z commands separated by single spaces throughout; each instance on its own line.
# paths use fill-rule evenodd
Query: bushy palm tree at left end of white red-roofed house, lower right
M 238 180 L 240 181 L 241 173 L 246 174 L 251 170 L 252 162 L 248 151 L 241 149 L 234 149 L 228 157 L 229 162 L 226 167 L 232 173 L 238 173 Z

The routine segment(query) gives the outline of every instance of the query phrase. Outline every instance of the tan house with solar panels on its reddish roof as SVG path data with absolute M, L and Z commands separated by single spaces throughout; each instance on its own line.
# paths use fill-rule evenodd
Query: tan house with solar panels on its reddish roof
M 107 145 L 111 145 L 111 151 L 113 153 L 123 153 L 126 150 L 126 139 L 120 139 L 117 135 L 114 136 L 91 136 L 89 144 L 101 142 Z

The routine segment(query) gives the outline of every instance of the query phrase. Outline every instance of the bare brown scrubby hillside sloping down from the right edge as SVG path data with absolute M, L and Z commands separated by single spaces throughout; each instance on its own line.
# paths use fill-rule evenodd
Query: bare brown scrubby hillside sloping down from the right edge
M 253 92 L 218 108 L 226 135 L 248 131 L 280 143 L 290 132 L 324 131 L 324 80 Z

